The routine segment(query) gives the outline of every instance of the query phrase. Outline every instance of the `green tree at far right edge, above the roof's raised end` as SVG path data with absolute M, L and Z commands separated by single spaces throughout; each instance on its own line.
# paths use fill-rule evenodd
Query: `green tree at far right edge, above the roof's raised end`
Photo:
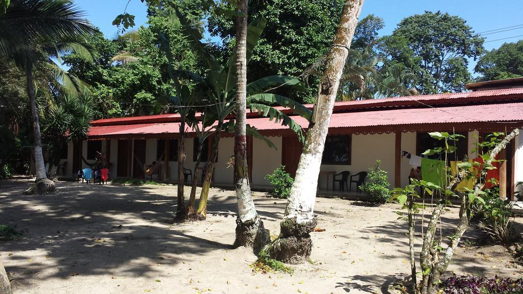
M 479 81 L 523 76 L 523 40 L 504 43 L 498 49 L 487 52 L 481 56 L 474 71 L 481 74 Z

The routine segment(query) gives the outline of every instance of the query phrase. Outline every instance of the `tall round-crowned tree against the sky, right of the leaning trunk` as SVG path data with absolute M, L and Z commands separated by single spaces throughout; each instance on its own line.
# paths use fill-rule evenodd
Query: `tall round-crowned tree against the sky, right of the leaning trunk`
M 402 63 L 417 75 L 420 93 L 459 92 L 471 80 L 468 58 L 484 51 L 483 38 L 467 21 L 448 13 L 425 12 L 404 18 L 379 49 L 390 63 Z

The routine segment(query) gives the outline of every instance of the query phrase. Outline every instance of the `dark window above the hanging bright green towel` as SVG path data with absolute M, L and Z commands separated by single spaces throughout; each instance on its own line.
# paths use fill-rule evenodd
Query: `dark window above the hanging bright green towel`
M 449 132 L 450 133 L 450 132 Z M 465 138 L 459 138 L 459 141 L 449 141 L 449 144 L 454 145 L 454 142 L 456 142 L 456 147 L 458 148 L 456 150 L 456 153 L 449 154 L 449 160 L 463 160 L 463 157 L 465 157 L 465 154 L 468 154 L 468 140 L 467 140 L 467 132 L 460 132 L 456 133 L 460 135 L 464 135 Z M 416 155 L 423 156 L 422 153 L 427 151 L 428 149 L 435 149 L 438 147 L 442 147 L 444 144 L 443 140 L 438 140 L 430 137 L 428 133 L 417 133 L 416 134 Z M 440 159 L 439 154 L 434 155 L 428 155 L 427 158 L 429 159 Z

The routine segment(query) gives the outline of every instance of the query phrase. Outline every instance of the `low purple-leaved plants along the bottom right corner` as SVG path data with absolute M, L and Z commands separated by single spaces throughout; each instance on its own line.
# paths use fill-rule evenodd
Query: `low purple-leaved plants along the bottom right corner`
M 447 294 L 523 294 L 523 278 L 456 276 L 442 279 L 441 289 Z

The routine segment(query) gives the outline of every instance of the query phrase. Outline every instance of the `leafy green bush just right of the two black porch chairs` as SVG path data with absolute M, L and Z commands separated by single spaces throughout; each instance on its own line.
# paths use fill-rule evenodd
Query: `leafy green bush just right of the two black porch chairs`
M 387 172 L 380 167 L 381 161 L 377 160 L 376 165 L 369 168 L 368 182 L 359 186 L 360 190 L 369 197 L 369 200 L 376 203 L 385 203 L 390 198 L 390 184 Z

